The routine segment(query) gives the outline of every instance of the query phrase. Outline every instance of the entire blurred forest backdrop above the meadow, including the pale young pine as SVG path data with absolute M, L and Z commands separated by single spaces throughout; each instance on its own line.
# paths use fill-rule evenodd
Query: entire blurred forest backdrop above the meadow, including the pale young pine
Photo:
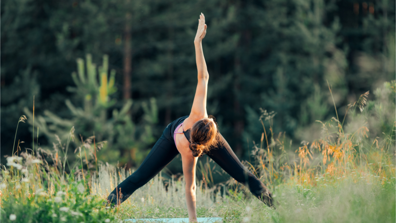
M 319 136 L 316 120 L 335 117 L 329 85 L 343 117 L 361 94 L 395 79 L 395 1 L 13 0 L 0 6 L 2 163 L 18 144 L 22 152 L 69 146 L 74 156 L 95 136 L 95 143 L 107 141 L 98 160 L 138 167 L 163 129 L 190 113 L 201 12 L 208 25 L 207 110 L 242 160 L 261 140 L 260 108 L 274 115 L 264 123 L 267 135 L 284 133 L 294 152 Z M 27 121 L 18 125 L 21 115 Z M 180 172 L 178 162 L 166 171 Z

